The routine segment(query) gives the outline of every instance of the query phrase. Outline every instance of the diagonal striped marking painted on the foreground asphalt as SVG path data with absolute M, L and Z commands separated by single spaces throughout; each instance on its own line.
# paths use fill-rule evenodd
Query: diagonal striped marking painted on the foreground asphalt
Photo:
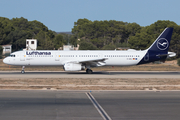
M 110 116 L 106 113 L 106 111 L 101 107 L 101 105 L 96 101 L 96 99 L 92 96 L 91 93 L 86 93 L 88 98 L 91 100 L 93 103 L 94 107 L 97 109 L 99 114 L 102 116 L 104 120 L 112 120 Z

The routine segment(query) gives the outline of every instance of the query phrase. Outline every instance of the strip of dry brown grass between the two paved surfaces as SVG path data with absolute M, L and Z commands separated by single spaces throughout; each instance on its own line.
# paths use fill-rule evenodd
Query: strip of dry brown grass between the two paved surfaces
M 0 89 L 180 90 L 180 78 L 0 78 Z

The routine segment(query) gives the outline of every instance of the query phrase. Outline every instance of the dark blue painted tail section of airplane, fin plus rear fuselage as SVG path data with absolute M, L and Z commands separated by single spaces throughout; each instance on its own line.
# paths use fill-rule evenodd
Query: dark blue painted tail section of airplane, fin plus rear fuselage
M 147 53 L 138 64 L 165 60 L 168 56 L 172 32 L 173 28 L 166 28 L 154 41 L 154 43 L 146 50 Z

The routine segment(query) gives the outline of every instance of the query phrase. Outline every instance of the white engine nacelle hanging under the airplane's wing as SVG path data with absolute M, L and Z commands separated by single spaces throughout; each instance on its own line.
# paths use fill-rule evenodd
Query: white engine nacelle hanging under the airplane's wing
M 64 70 L 65 71 L 79 71 L 79 70 L 84 70 L 85 66 L 82 66 L 81 64 L 77 63 L 66 63 L 64 65 Z

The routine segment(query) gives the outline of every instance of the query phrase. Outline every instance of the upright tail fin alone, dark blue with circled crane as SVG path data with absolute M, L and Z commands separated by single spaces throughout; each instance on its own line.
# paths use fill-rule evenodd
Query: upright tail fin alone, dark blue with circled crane
M 166 28 L 154 41 L 154 43 L 148 48 L 148 50 L 167 53 L 171 41 L 172 32 L 173 28 Z

